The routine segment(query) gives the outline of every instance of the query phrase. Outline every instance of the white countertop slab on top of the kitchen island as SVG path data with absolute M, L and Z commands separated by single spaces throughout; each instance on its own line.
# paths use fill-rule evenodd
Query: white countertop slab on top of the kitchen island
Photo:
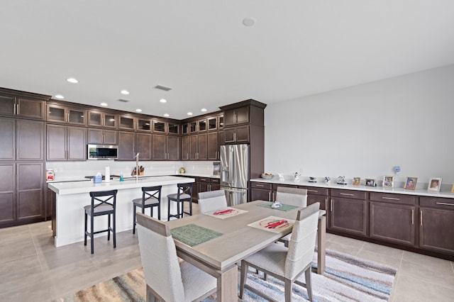
M 132 189 L 140 188 L 142 186 L 165 186 L 169 184 L 179 184 L 184 182 L 194 182 L 195 179 L 189 177 L 174 177 L 174 176 L 160 176 L 160 177 L 143 177 L 135 180 L 135 178 L 125 179 L 119 181 L 118 179 L 111 179 L 111 181 L 102 181 L 99 184 L 94 184 L 93 181 L 66 181 L 66 182 L 53 182 L 48 183 L 49 189 L 59 195 L 88 193 L 91 191 L 108 191 L 114 189 Z

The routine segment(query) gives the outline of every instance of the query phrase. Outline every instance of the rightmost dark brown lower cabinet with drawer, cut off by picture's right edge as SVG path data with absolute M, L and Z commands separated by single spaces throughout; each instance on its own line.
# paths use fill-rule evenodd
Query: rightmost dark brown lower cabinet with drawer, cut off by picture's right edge
M 454 199 L 419 198 L 419 247 L 454 255 Z

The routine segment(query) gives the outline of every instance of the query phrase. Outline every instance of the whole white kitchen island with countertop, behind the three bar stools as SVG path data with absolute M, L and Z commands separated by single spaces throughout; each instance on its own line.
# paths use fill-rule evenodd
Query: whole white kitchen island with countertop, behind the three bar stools
M 162 186 L 161 219 L 167 220 L 167 195 L 177 193 L 177 184 L 194 182 L 188 177 L 148 177 L 143 179 L 126 179 L 125 181 L 111 180 L 94 184 L 93 181 L 67 181 L 49 183 L 48 188 L 55 192 L 52 214 L 52 229 L 55 247 L 70 245 L 84 240 L 84 206 L 91 203 L 89 192 L 118 190 L 116 196 L 116 232 L 133 228 L 134 198 L 141 198 L 143 186 Z M 176 211 L 176 205 L 171 205 L 171 211 Z M 175 208 L 174 208 L 175 206 Z M 148 209 L 146 210 L 148 213 Z M 157 218 L 157 211 L 153 217 Z M 105 229 L 107 217 L 96 217 L 94 230 Z M 104 236 L 106 234 L 104 233 Z M 132 232 L 131 232 L 132 235 Z M 103 236 L 103 233 L 99 234 Z M 121 244 L 121 242 L 118 242 Z

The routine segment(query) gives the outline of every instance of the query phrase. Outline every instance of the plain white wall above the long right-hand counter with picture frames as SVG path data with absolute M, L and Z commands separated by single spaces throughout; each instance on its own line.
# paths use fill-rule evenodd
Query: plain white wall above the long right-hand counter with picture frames
M 265 172 L 453 184 L 453 130 L 454 65 L 270 104 Z

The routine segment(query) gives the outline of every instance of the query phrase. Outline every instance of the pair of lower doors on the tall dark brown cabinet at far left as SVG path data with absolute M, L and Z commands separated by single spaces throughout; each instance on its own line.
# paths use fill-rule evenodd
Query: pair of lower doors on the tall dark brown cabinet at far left
M 0 184 L 0 226 L 45 219 L 43 162 L 0 164 L 5 177 Z

